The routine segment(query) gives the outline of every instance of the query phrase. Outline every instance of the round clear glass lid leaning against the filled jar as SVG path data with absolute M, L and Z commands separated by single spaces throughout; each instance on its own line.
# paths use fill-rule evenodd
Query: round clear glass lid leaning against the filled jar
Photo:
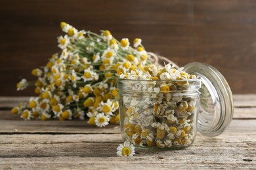
M 188 63 L 184 71 L 200 76 L 198 131 L 206 136 L 221 135 L 228 127 L 234 112 L 233 97 L 228 82 L 217 69 L 205 63 Z

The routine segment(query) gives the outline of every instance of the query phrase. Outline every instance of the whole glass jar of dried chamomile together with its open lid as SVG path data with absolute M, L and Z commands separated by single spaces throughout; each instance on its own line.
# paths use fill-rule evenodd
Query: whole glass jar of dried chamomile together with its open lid
M 233 115 L 231 90 L 215 68 L 204 63 L 184 67 L 199 79 L 119 79 L 121 136 L 137 148 L 179 149 L 190 146 L 197 129 L 221 134 Z

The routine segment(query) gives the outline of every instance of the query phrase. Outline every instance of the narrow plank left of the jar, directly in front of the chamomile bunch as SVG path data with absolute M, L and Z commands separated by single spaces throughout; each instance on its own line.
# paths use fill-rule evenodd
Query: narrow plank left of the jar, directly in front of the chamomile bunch
M 120 133 L 118 125 L 108 125 L 106 127 L 91 126 L 87 121 L 59 121 L 59 120 L 0 120 L 0 134 L 17 133 L 62 133 L 62 134 L 87 134 L 87 133 Z

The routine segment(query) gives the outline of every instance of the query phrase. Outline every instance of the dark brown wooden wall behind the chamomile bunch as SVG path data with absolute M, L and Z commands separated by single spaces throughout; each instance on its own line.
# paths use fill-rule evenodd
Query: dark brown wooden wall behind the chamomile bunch
M 117 38 L 140 37 L 146 50 L 182 66 L 213 65 L 233 93 L 256 93 L 255 0 L 68 1 L 0 0 L 0 95 L 16 92 L 21 78 L 58 52 L 59 23 Z

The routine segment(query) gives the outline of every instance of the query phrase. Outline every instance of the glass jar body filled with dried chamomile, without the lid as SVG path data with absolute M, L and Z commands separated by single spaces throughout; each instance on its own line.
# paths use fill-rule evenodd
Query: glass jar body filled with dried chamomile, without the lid
M 119 79 L 121 136 L 138 148 L 178 149 L 196 137 L 200 79 Z

